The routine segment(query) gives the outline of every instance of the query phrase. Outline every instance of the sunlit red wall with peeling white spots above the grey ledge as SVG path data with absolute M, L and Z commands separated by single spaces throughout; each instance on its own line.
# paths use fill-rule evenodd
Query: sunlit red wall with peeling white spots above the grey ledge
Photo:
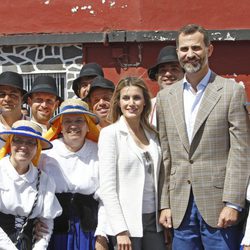
M 0 34 L 249 29 L 248 0 L 4 0 Z

